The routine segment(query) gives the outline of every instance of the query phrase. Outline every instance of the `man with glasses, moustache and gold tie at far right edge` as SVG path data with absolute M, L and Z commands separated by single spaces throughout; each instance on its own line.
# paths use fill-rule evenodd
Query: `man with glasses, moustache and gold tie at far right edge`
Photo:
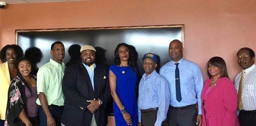
M 256 65 L 255 53 L 248 47 L 237 52 L 237 63 L 242 68 L 235 79 L 240 126 L 256 126 Z

